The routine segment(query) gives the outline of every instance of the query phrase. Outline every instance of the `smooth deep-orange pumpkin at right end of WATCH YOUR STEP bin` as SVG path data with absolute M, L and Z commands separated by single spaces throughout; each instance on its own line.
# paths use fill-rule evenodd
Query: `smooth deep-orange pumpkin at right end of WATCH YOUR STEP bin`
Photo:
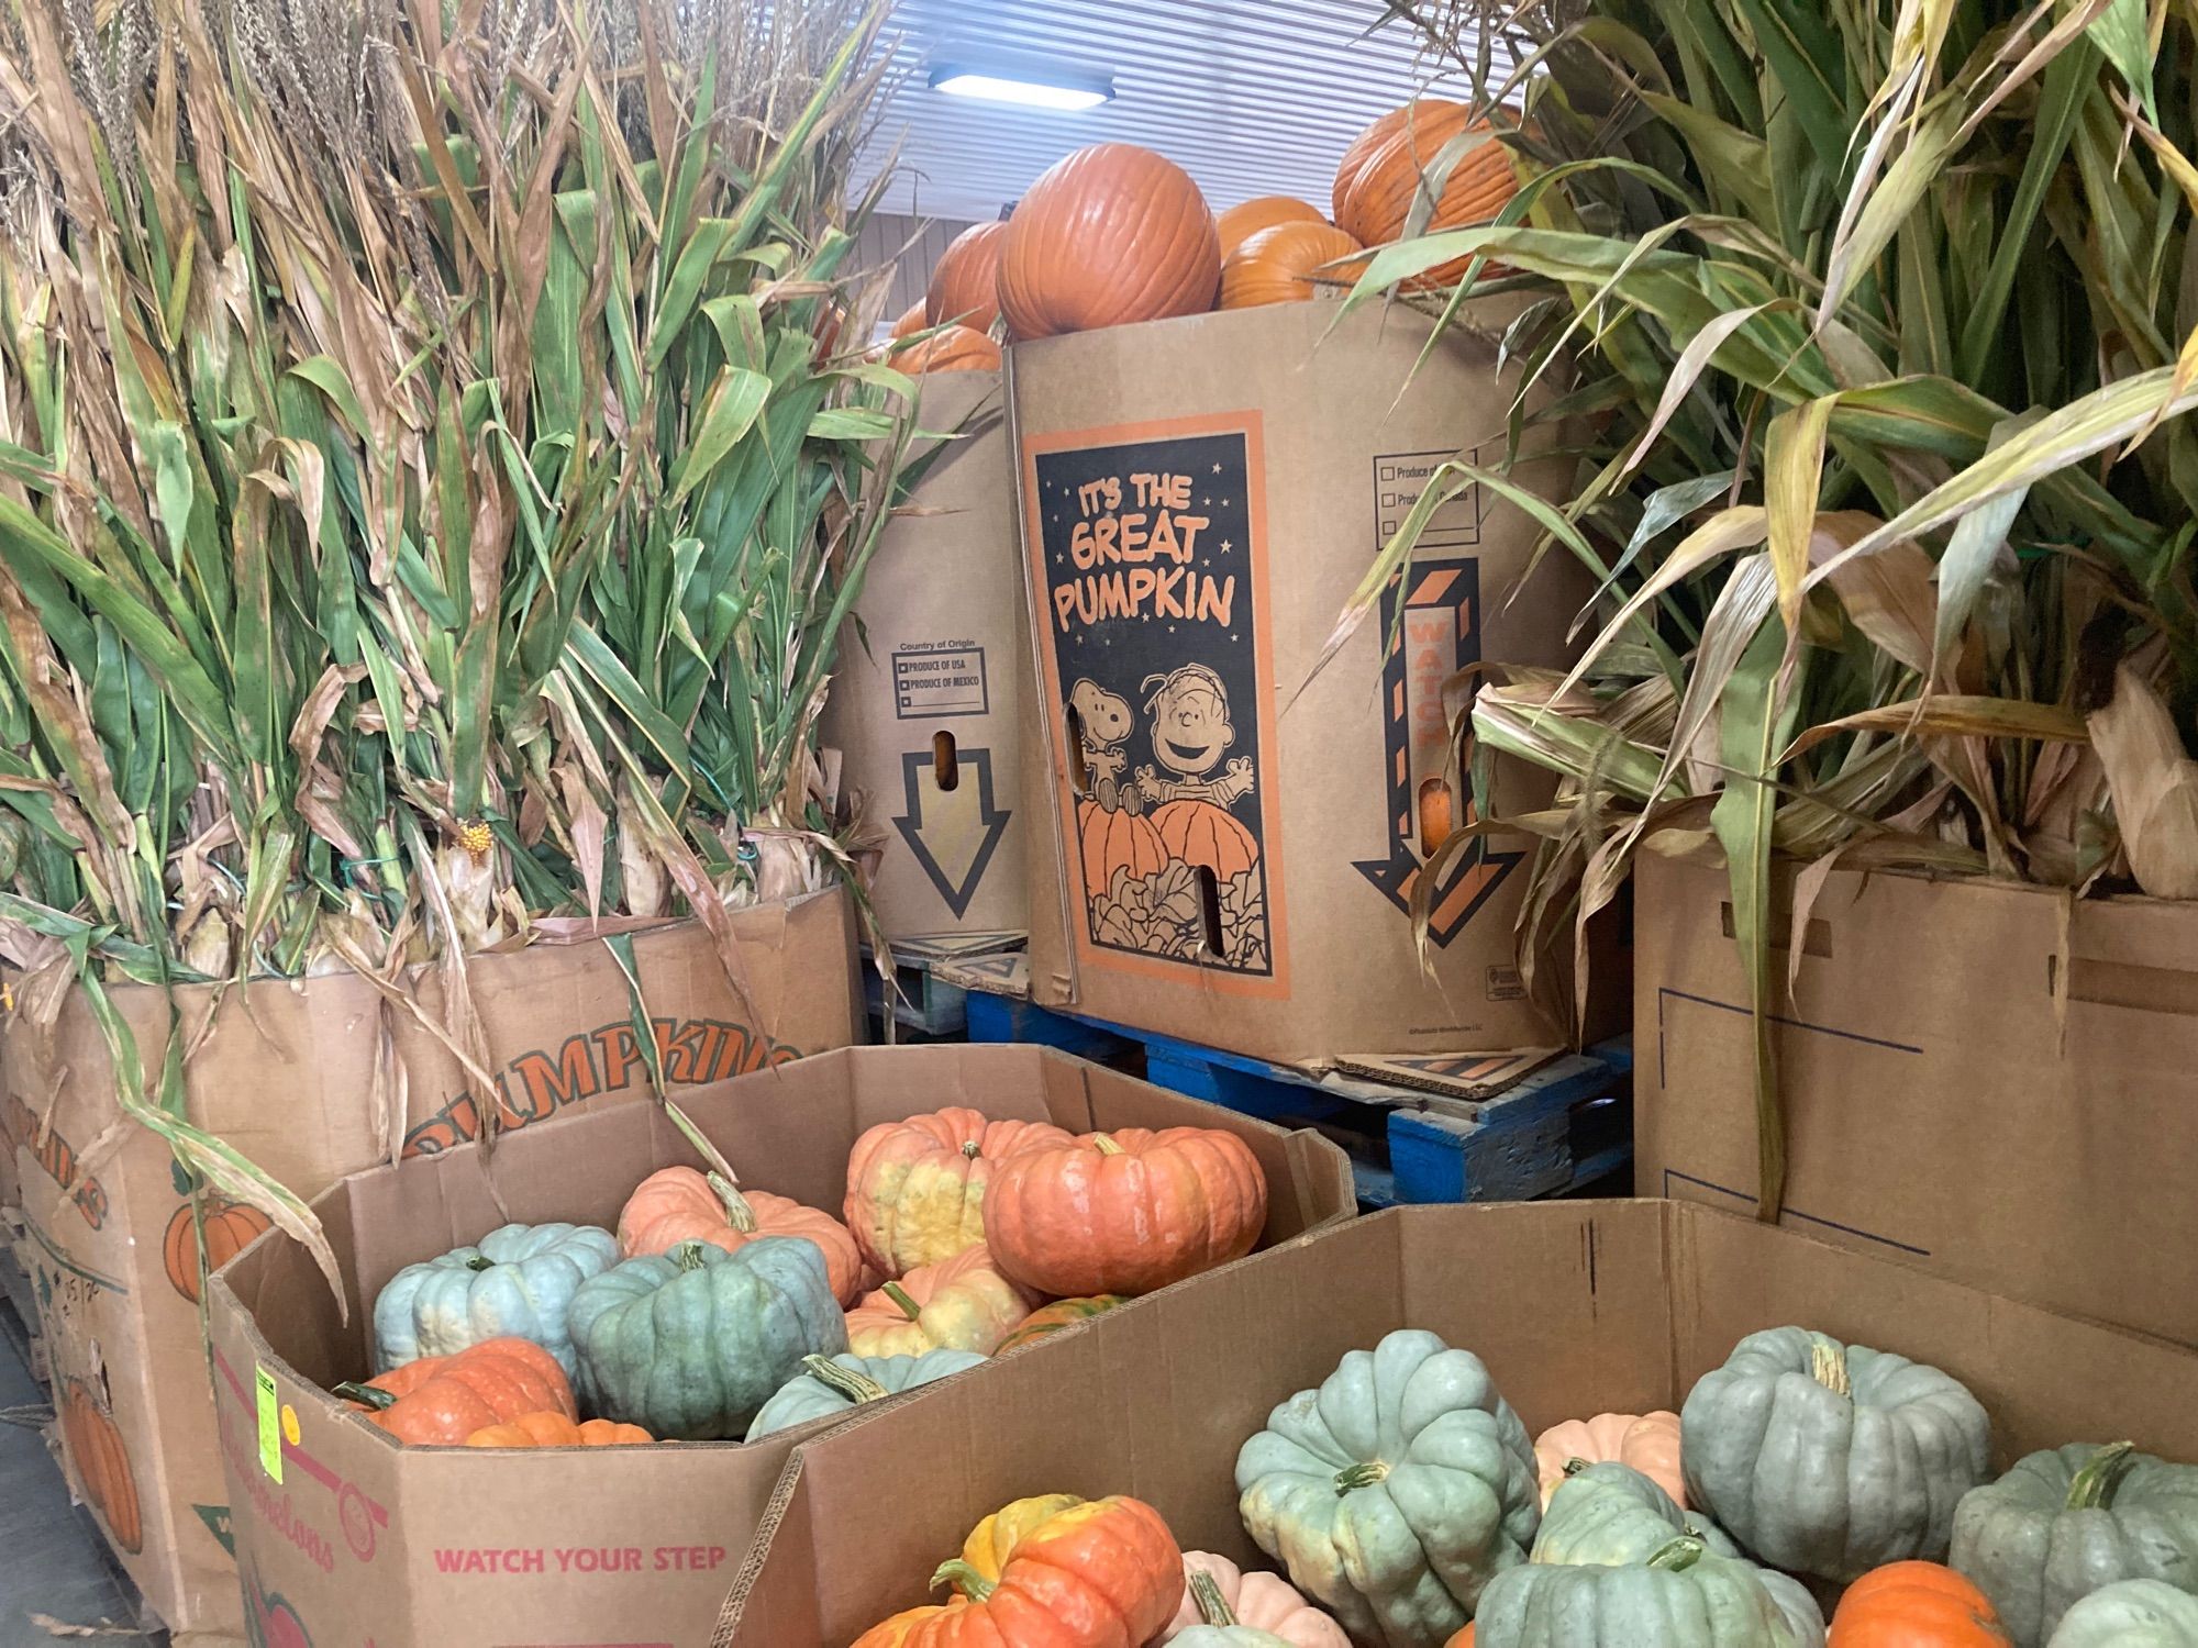
M 1000 1270 L 1042 1294 L 1150 1294 L 1242 1259 L 1266 1173 L 1218 1127 L 1121 1127 L 1004 1162 L 985 1204 Z

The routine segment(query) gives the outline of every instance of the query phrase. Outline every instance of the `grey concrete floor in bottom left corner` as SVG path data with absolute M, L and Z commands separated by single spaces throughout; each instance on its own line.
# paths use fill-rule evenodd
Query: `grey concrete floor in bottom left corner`
M 4 1250 L 0 1263 L 9 1263 Z M 0 1296 L 0 1648 L 79 1639 L 57 1626 L 92 1626 L 81 1639 L 101 1648 L 165 1648 L 167 1633 L 132 1628 L 136 1595 L 108 1560 L 92 1514 L 68 1501 L 46 1450 L 51 1417 L 46 1391 L 31 1378 L 29 1334 Z

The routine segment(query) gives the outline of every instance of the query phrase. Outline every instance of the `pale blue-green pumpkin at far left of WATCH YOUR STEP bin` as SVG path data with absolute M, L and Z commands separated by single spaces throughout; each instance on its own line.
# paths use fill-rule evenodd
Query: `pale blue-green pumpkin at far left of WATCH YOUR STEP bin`
M 578 1371 L 571 1299 L 613 1263 L 618 1237 L 593 1224 L 506 1224 L 404 1266 L 374 1299 L 374 1371 L 514 1336 L 550 1351 L 569 1378 Z

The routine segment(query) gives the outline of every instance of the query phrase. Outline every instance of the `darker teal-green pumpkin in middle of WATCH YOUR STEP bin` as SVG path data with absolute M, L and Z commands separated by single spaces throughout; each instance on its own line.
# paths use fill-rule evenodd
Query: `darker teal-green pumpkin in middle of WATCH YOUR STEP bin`
M 846 1316 L 815 1241 L 684 1241 L 580 1283 L 571 1340 L 591 1413 L 664 1441 L 717 1441 L 745 1437 L 804 1356 L 844 1351 Z

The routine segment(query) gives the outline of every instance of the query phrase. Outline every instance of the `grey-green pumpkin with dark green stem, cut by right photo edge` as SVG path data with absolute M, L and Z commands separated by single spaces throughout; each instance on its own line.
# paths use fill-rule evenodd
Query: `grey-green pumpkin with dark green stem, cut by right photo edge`
M 1991 1597 L 2018 1648 L 2117 1580 L 2198 1593 L 2198 1468 L 2075 1444 L 2016 1461 L 1954 1514 L 1952 1565 Z

